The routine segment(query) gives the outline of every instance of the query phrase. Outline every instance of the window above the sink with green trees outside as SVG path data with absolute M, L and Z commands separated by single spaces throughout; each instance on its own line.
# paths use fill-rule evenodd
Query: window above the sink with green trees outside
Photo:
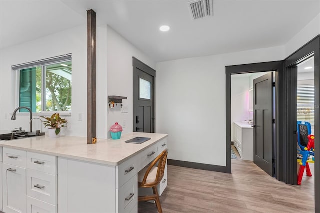
M 29 107 L 35 113 L 71 111 L 71 55 L 12 66 L 12 69 L 19 72 L 19 106 Z

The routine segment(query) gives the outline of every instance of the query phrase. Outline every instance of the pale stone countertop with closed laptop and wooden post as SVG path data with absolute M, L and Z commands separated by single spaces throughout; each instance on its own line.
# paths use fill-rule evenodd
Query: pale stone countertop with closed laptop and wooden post
M 151 139 L 142 144 L 124 142 L 134 137 L 151 137 Z M 132 132 L 122 135 L 118 140 L 97 139 L 96 144 L 87 144 L 86 137 L 49 138 L 45 135 L 0 140 L 0 146 L 115 166 L 164 137 L 167 137 L 167 134 Z

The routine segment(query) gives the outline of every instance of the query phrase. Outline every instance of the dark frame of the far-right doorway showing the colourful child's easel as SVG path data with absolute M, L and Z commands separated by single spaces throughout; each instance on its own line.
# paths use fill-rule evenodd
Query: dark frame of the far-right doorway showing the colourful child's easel
M 320 35 L 317 35 L 315 38 L 310 40 L 308 43 L 303 45 L 301 48 L 296 50 L 290 56 L 285 58 L 285 71 L 283 72 L 284 75 L 287 75 L 286 81 L 288 85 L 288 92 L 296 92 L 296 86 L 292 83 L 294 80 L 294 74 L 292 71 L 296 69 L 296 65 L 303 59 L 307 58 L 311 54 L 314 54 L 314 117 L 320 117 Z M 293 75 L 293 76 L 292 76 Z M 291 82 L 290 82 L 291 81 Z M 294 98 L 288 96 L 288 106 L 296 105 L 296 96 Z M 287 166 L 289 167 L 288 180 L 290 181 L 289 184 L 297 184 L 297 167 L 296 167 L 296 148 L 297 148 L 297 141 L 296 135 L 293 134 L 293 131 L 296 130 L 296 112 L 295 115 L 293 112 L 288 114 L 288 121 L 290 124 L 288 127 L 288 132 L 286 133 L 286 137 L 288 139 L 283 140 L 287 147 L 287 154 L 288 154 L 288 163 Z M 295 119 L 294 119 L 295 118 Z M 293 125 L 294 124 L 294 125 Z M 314 182 L 320 182 L 320 166 L 318 165 L 320 162 L 320 119 L 314 119 L 314 135 L 316 135 L 314 140 L 314 158 L 318 159 L 314 162 Z M 285 139 L 285 138 L 284 138 Z M 291 169 L 291 170 L 290 170 Z M 293 182 L 292 182 L 293 181 Z M 320 200 L 320 185 L 314 184 L 314 200 Z M 320 212 L 320 203 L 315 202 L 315 212 Z

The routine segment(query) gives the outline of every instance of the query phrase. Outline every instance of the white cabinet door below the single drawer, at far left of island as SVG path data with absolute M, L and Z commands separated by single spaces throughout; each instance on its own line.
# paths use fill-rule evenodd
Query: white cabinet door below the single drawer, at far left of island
M 3 211 L 26 212 L 25 168 L 2 164 Z

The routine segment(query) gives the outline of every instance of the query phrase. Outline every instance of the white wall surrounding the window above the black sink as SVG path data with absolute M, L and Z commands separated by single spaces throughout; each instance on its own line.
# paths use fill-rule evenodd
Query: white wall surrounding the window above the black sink
M 17 114 L 10 120 L 16 103 L 16 72 L 12 65 L 72 53 L 72 115 L 65 116 L 68 127 L 62 132 L 74 136 L 86 136 L 87 132 L 87 45 L 86 25 L 57 32 L 26 43 L 1 49 L 0 65 L 0 129 L 16 127 L 29 129 L 28 113 Z M 106 79 L 106 25 L 97 27 L 97 137 L 106 137 L 107 102 Z M 78 121 L 78 114 L 82 121 Z M 63 116 L 62 116 L 63 117 Z M 38 120 L 33 122 L 33 131 L 41 129 Z

